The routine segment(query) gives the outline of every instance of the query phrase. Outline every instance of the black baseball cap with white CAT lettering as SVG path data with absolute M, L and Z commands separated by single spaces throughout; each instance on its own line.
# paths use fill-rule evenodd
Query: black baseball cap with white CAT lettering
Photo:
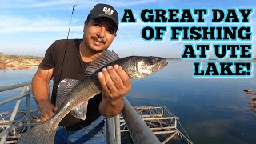
M 103 20 L 118 29 L 118 12 L 113 6 L 98 3 L 87 16 L 87 20 L 93 18 L 104 18 Z

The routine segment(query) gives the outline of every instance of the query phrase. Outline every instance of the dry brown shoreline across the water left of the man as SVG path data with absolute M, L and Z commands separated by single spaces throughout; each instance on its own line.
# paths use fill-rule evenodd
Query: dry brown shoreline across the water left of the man
M 0 54 L 0 70 L 20 70 L 37 67 L 42 57 Z

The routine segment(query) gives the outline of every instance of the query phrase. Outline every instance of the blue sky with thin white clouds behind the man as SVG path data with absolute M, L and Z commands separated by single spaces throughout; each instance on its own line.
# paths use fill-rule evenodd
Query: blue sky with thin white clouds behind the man
M 145 8 L 162 8 L 182 10 L 194 8 L 251 8 L 256 10 L 254 0 L 127 0 L 127 1 L 84 1 L 84 0 L 0 0 L 0 52 L 3 54 L 22 54 L 43 56 L 45 50 L 57 39 L 66 39 L 70 26 L 72 7 L 77 5 L 71 19 L 70 37 L 82 38 L 83 22 L 91 8 L 97 3 L 108 3 L 118 10 L 122 18 L 124 9 L 132 9 L 137 22 L 134 24 L 121 23 L 118 37 L 115 38 L 111 50 L 121 56 L 127 55 L 154 55 L 162 57 L 180 57 L 184 42 L 170 42 L 170 26 L 191 26 L 180 23 L 146 24 L 141 22 L 139 15 Z M 241 14 L 238 14 L 241 18 Z M 238 17 L 238 18 L 239 18 Z M 143 26 L 167 26 L 164 40 L 161 42 L 145 42 L 141 37 Z M 195 24 L 193 24 L 195 25 Z M 210 14 L 206 23 L 200 26 L 209 26 Z M 232 25 L 232 24 L 227 24 Z M 252 26 L 256 34 L 256 14 L 250 15 L 250 23 L 236 23 L 235 26 Z M 215 26 L 222 26 L 218 23 Z M 253 43 L 255 45 L 255 36 Z M 195 43 L 191 41 L 190 43 Z M 203 43 L 203 42 L 200 42 Z M 213 42 L 209 42 L 213 43 Z M 225 42 L 226 43 L 226 42 Z M 238 42 L 235 42 L 238 43 Z M 255 50 L 254 50 L 255 51 Z M 254 54 L 255 55 L 255 54 Z

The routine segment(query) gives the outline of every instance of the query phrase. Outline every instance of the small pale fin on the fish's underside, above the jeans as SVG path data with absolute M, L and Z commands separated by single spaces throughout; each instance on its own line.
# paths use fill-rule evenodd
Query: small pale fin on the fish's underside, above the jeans
M 71 111 L 71 114 L 75 118 L 85 120 L 86 119 L 86 113 L 87 113 L 87 105 L 88 105 L 88 102 L 82 103 L 81 105 L 75 107 L 74 110 Z

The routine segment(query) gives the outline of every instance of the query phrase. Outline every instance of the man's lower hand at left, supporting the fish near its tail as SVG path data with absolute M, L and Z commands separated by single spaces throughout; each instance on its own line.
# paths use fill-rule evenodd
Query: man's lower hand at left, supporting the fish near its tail
M 41 102 L 41 104 L 42 106 L 39 107 L 41 113 L 41 122 L 48 120 L 54 115 L 54 113 L 58 111 L 58 107 L 54 107 L 54 105 L 50 102 Z

